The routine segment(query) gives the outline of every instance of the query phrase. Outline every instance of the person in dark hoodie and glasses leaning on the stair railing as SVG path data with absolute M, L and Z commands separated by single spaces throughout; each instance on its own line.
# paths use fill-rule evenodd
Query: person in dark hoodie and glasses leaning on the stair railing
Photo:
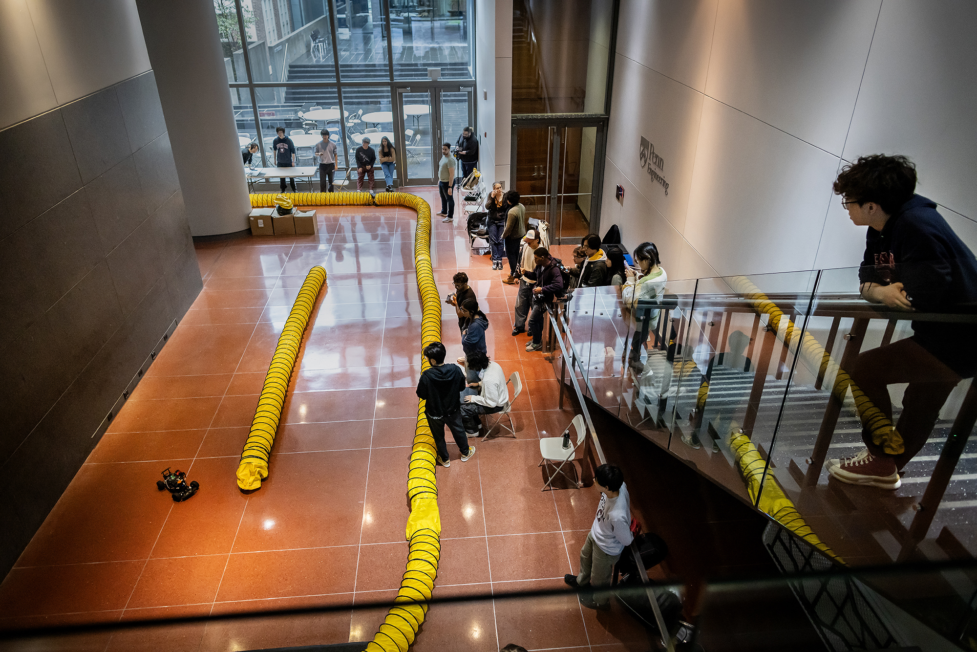
M 977 260 L 936 210 L 915 195 L 916 172 L 905 156 L 873 154 L 846 166 L 834 193 L 857 226 L 869 227 L 859 271 L 862 297 L 891 310 L 973 312 Z M 831 459 L 828 473 L 854 485 L 898 489 L 898 471 L 926 443 L 940 409 L 961 378 L 977 369 L 973 325 L 913 321 L 913 336 L 862 353 L 848 369 L 871 403 L 892 418 L 887 385 L 909 383 L 895 431 L 863 429 L 866 450 Z

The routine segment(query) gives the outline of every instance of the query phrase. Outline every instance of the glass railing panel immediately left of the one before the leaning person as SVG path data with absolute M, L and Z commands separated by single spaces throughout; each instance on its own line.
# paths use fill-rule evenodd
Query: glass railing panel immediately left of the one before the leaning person
M 666 404 L 669 450 L 753 504 L 792 382 L 789 345 L 816 278 L 700 279 L 683 322 L 671 326 L 678 346 Z

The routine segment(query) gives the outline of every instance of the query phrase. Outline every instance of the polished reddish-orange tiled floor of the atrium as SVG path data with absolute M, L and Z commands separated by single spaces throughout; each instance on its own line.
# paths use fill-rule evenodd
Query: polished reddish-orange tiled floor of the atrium
M 437 191 L 418 192 L 438 209 Z M 368 640 L 406 559 L 407 458 L 420 372 L 421 305 L 413 272 L 416 215 L 404 208 L 318 208 L 318 236 L 197 244 L 204 288 L 132 398 L 0 587 L 7 626 L 206 615 L 319 604 L 314 617 L 104 632 L 30 649 L 250 650 Z M 456 220 L 456 222 L 461 222 Z M 467 463 L 438 469 L 443 524 L 435 595 L 562 587 L 575 572 L 599 493 L 540 492 L 537 438 L 557 436 L 558 382 L 513 337 L 516 288 L 472 256 L 463 224 L 435 218 L 442 295 L 457 270 L 488 313 L 488 351 L 525 389 L 517 438 L 475 442 Z M 234 471 L 265 371 L 298 287 L 328 273 L 275 443 L 271 476 L 251 495 Z M 453 310 L 448 359 L 461 353 Z M 568 404 L 569 405 L 569 404 Z M 497 433 L 497 431 L 496 431 Z M 448 437 L 450 441 L 450 437 Z M 200 493 L 157 493 L 167 467 Z M 641 642 L 638 642 L 641 641 Z M 575 596 L 433 607 L 415 650 L 644 649 L 626 616 Z M 14 649 L 14 648 L 11 648 Z

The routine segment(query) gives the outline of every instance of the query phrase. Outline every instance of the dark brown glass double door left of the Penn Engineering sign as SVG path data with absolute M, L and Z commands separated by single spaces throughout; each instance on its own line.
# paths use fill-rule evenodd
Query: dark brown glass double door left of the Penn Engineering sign
M 600 210 L 594 193 L 598 127 L 514 129 L 513 177 L 528 216 L 549 224 L 553 243 L 579 244 Z

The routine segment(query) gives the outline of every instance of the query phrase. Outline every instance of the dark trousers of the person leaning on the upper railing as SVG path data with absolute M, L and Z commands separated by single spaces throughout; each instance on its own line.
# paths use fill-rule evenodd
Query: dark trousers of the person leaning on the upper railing
M 859 355 L 851 370 L 852 380 L 865 392 L 876 408 L 892 419 L 892 401 L 887 385 L 908 382 L 903 395 L 903 413 L 896 430 L 903 436 L 902 453 L 888 455 L 902 469 L 926 444 L 940 409 L 960 376 L 924 349 L 913 337 L 871 349 Z M 862 440 L 873 456 L 885 456 L 882 443 L 872 441 L 863 429 Z

